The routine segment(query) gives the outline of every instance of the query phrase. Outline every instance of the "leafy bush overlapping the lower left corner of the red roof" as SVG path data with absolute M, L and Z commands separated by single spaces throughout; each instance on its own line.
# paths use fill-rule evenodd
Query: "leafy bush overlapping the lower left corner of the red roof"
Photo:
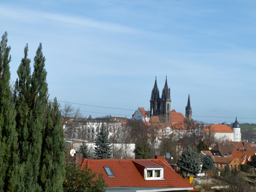
M 90 169 L 76 168 L 75 164 L 65 166 L 66 176 L 63 183 L 64 192 L 103 192 L 107 186 L 102 173 L 93 173 Z

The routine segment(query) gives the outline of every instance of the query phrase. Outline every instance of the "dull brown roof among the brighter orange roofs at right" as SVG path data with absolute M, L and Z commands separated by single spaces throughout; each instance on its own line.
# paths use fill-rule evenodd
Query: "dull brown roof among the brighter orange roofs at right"
M 236 147 L 232 143 L 217 143 L 210 151 L 215 156 L 224 157 L 231 155 L 234 149 L 236 149 Z

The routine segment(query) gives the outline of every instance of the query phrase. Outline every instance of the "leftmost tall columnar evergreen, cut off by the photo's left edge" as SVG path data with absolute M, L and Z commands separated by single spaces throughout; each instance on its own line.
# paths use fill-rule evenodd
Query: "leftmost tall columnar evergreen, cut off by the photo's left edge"
M 0 42 L 0 191 L 14 191 L 18 187 L 21 190 L 24 168 L 19 164 L 16 111 L 9 86 L 11 47 L 7 42 L 5 32 Z

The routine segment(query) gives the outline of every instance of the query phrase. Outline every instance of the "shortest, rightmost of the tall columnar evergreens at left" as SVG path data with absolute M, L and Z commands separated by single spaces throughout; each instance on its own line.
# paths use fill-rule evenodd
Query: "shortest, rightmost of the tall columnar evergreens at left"
M 59 104 L 54 99 L 47 106 L 45 134 L 42 148 L 42 169 L 40 180 L 45 191 L 63 191 L 65 178 L 64 159 L 65 142 L 61 125 Z

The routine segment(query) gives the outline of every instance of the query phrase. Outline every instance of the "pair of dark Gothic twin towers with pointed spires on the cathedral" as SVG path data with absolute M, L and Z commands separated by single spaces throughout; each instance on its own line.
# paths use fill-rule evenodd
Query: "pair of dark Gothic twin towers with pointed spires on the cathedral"
M 168 88 L 167 77 L 165 80 L 162 96 L 159 96 L 159 89 L 155 81 L 150 98 L 150 117 L 158 116 L 160 122 L 170 123 L 171 98 L 170 88 Z

